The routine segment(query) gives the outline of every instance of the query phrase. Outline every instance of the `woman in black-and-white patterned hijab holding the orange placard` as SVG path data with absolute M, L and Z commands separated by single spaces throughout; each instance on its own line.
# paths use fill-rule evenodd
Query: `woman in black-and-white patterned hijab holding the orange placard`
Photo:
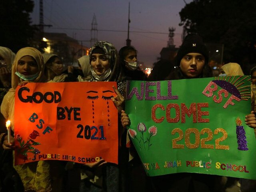
M 89 54 L 91 78 L 89 82 L 115 81 L 118 90 L 125 88 L 120 66 L 118 65 L 118 54 L 113 44 L 100 41 L 92 46 Z M 88 82 L 86 78 L 78 76 L 79 82 Z M 118 96 L 114 97 L 114 104 L 123 103 L 124 97 L 114 88 Z M 120 107 L 120 106 L 119 106 Z M 122 126 L 121 126 L 122 127 Z M 118 130 L 122 135 L 122 130 Z M 121 191 L 120 164 L 110 164 L 104 159 L 91 164 L 81 166 L 80 192 L 84 191 Z

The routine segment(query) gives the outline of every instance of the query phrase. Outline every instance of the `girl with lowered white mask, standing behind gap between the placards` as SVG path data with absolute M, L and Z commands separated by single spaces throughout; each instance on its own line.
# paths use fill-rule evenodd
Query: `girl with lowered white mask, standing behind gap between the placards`
M 124 80 L 141 80 L 146 81 L 147 75 L 140 70 L 137 62 L 137 50 L 132 46 L 124 46 L 119 52 L 119 66 L 121 66 L 121 74 Z M 124 90 L 118 90 L 122 95 Z M 148 191 L 152 190 L 151 185 L 148 183 L 149 179 L 146 177 L 144 165 L 141 163 L 140 158 L 130 141 L 127 130 L 123 130 L 121 139 L 121 176 L 126 181 L 126 189 L 128 191 Z

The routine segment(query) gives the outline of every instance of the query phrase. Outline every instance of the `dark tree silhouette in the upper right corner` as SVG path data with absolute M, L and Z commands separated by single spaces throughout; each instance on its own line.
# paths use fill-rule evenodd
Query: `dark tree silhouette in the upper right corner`
M 224 61 L 255 63 L 255 0 L 194 0 L 180 11 L 180 26 L 204 42 L 224 44 Z

